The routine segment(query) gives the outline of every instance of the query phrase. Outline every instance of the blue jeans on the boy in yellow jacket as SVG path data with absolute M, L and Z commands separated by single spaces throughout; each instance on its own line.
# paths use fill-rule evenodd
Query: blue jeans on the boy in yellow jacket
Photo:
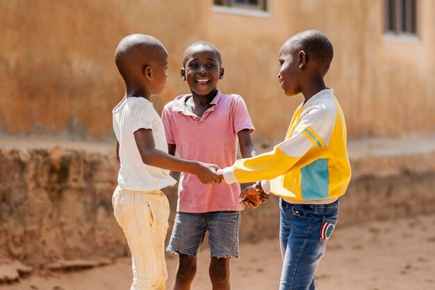
M 331 204 L 289 204 L 279 200 L 279 239 L 283 268 L 279 290 L 315 289 L 315 271 L 337 223 L 338 200 Z

